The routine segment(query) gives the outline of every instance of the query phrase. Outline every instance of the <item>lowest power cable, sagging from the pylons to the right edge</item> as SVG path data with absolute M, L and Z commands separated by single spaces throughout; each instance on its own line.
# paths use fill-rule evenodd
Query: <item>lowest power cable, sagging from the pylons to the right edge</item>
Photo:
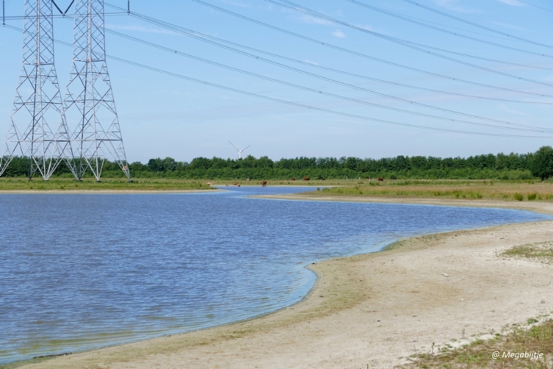
M 23 32 L 21 29 L 13 27 L 13 26 L 6 26 L 6 27 L 10 28 L 12 30 L 17 30 L 19 32 Z M 55 40 L 55 42 L 57 44 L 61 44 L 63 46 L 68 46 L 68 47 L 73 48 L 73 45 L 69 44 L 68 42 L 59 41 L 59 40 Z M 305 105 L 305 104 L 299 104 L 297 102 L 290 102 L 288 100 L 281 100 L 281 99 L 277 99 L 275 97 L 269 97 L 269 96 L 265 96 L 265 95 L 251 93 L 251 92 L 248 92 L 248 91 L 238 90 L 237 88 L 232 88 L 232 87 L 229 87 L 229 86 L 223 86 L 223 85 L 220 85 L 220 84 L 214 84 L 212 82 L 203 81 L 201 79 L 196 79 L 196 78 L 193 78 L 193 77 L 188 77 L 188 76 L 180 75 L 180 74 L 177 74 L 177 73 L 172 73 L 172 72 L 169 72 L 167 70 L 162 70 L 162 69 L 155 68 L 155 67 L 152 67 L 152 66 L 147 66 L 147 65 L 144 65 L 144 64 L 137 63 L 135 61 L 122 59 L 120 57 L 114 57 L 112 55 L 106 55 L 106 57 L 108 57 L 109 59 L 113 59 L 115 61 L 120 61 L 124 64 L 137 66 L 138 68 L 144 68 L 144 69 L 151 70 L 151 71 L 154 71 L 154 72 L 157 72 L 157 73 L 162 73 L 162 74 L 165 74 L 165 75 L 169 75 L 171 77 L 185 79 L 185 80 L 190 81 L 190 82 L 196 82 L 198 84 L 204 84 L 206 86 L 212 86 L 212 87 L 220 88 L 220 89 L 223 89 L 223 90 L 226 90 L 226 91 L 232 91 L 234 93 L 240 93 L 242 95 L 258 97 L 258 98 L 263 99 L 263 100 L 269 100 L 269 101 L 272 101 L 272 102 L 279 102 L 281 104 L 288 104 L 290 106 L 297 106 L 297 107 L 300 107 L 300 108 L 307 108 L 307 109 L 310 109 L 310 110 L 313 110 L 313 111 L 321 111 L 323 113 L 330 113 L 330 114 L 333 114 L 333 115 L 341 115 L 341 116 L 344 116 L 344 117 L 353 117 L 353 118 L 360 119 L 360 120 L 368 120 L 368 121 L 371 121 L 371 122 L 380 122 L 380 123 L 392 124 L 392 125 L 396 125 L 396 126 L 407 126 L 407 127 L 418 128 L 418 129 L 427 129 L 427 130 L 431 130 L 431 131 L 463 133 L 463 134 L 468 134 L 468 135 L 487 135 L 487 136 L 492 136 L 492 137 L 518 137 L 518 138 L 540 138 L 540 139 L 553 138 L 553 136 L 543 136 L 543 135 L 537 135 L 537 136 L 507 135 L 507 134 L 503 134 L 503 133 L 482 133 L 482 132 L 473 132 L 473 131 L 458 131 L 458 130 L 454 130 L 454 129 L 444 129 L 444 128 L 436 128 L 436 127 L 431 127 L 431 126 L 421 126 L 421 125 L 418 125 L 418 124 L 408 124 L 408 123 L 401 123 L 401 122 L 393 122 L 393 121 L 390 121 L 390 120 L 381 120 L 381 119 L 378 119 L 378 118 L 366 117 L 364 115 L 355 115 L 355 114 L 350 114 L 350 113 L 344 113 L 344 112 L 341 112 L 341 111 L 332 111 L 330 109 L 318 108 L 316 106 L 309 106 L 309 105 Z M 499 127 L 495 127 L 495 128 L 499 128 Z

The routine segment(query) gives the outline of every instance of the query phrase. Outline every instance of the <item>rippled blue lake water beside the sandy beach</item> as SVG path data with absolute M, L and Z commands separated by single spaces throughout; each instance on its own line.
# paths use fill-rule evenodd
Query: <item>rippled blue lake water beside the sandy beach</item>
M 304 265 L 528 211 L 199 194 L 0 195 L 0 363 L 196 330 L 299 301 Z

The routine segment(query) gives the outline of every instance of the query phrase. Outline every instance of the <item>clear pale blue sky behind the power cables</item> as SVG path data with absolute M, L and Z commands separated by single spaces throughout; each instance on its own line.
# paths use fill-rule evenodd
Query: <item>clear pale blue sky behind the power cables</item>
M 71 1 L 59 0 L 57 2 L 61 8 L 66 8 Z M 352 24 L 355 27 L 397 39 L 404 39 L 455 53 L 539 67 L 527 68 L 525 66 L 499 64 L 458 54 L 439 52 L 442 55 L 477 64 L 496 72 L 532 79 L 542 84 L 506 77 L 505 75 L 440 59 L 428 53 L 421 53 L 418 50 L 368 35 L 366 32 L 349 28 L 343 24 L 310 17 L 264 0 L 205 0 L 205 2 L 317 39 L 325 44 L 347 48 L 357 53 L 386 59 L 411 68 L 429 70 L 432 73 L 500 88 L 553 95 L 553 48 L 529 44 L 506 35 L 476 28 L 467 23 L 429 12 L 412 5 L 408 1 L 360 0 L 362 3 L 383 8 L 404 17 L 411 17 L 411 19 L 422 21 L 431 26 L 503 44 L 511 48 L 520 48 L 538 54 L 542 53 L 546 56 L 521 53 L 516 50 L 463 39 L 362 8 L 346 0 L 297 0 L 294 2 L 339 19 L 339 21 Z M 551 39 L 553 34 L 553 12 L 527 4 L 532 3 L 553 10 L 553 6 L 545 0 L 527 0 L 527 3 L 518 0 L 420 0 L 418 2 L 509 35 L 516 35 L 517 37 L 553 46 L 553 40 Z M 22 15 L 23 3 L 21 0 L 6 0 L 6 14 Z M 126 8 L 126 1 L 123 0 L 109 0 L 107 3 Z M 155 3 L 133 0 L 131 1 L 131 10 L 252 48 L 306 61 L 310 64 L 335 68 L 347 73 L 384 79 L 388 82 L 496 99 L 553 102 L 553 98 L 547 99 L 462 84 L 451 79 L 433 77 L 348 53 L 341 53 L 327 46 L 303 41 L 243 19 L 232 17 L 192 0 Z M 113 8 L 106 6 L 106 12 L 114 11 Z M 7 23 L 18 28 L 22 26 L 21 20 L 8 21 Z M 451 119 L 490 123 L 476 118 L 454 115 L 443 110 L 438 111 L 391 100 L 350 86 L 344 86 L 344 84 L 393 95 L 403 100 L 427 104 L 440 109 L 478 115 L 514 124 L 553 129 L 551 120 L 553 105 L 477 100 L 420 91 L 268 57 L 268 59 L 274 59 L 294 68 L 343 83 L 335 84 L 328 82 L 328 80 L 302 75 L 257 59 L 244 57 L 128 15 L 109 15 L 106 17 L 106 28 L 160 44 L 171 48 L 171 50 L 178 50 L 182 53 L 247 70 L 251 73 L 306 86 L 348 99 L 362 100 L 371 104 L 380 104 L 391 108 L 400 108 Z M 55 37 L 57 39 L 71 43 L 72 32 L 71 19 L 55 19 Z M 13 96 L 21 67 L 21 41 L 22 36 L 17 31 L 0 28 L 0 70 L 2 71 L 0 79 L 0 137 L 3 137 L 8 131 Z M 167 53 L 113 34 L 106 35 L 106 43 L 109 55 L 115 57 L 297 104 L 325 108 L 350 115 L 373 117 L 379 120 L 457 131 L 553 136 L 553 134 L 547 133 L 506 131 L 472 126 L 460 122 L 435 120 L 430 117 L 339 100 L 328 95 L 301 91 L 290 86 L 283 86 L 282 84 L 236 73 L 175 53 Z M 67 83 L 70 66 L 71 49 L 57 45 L 56 67 L 62 91 Z M 274 160 L 301 155 L 381 158 L 395 155 L 446 157 L 480 153 L 509 153 L 512 151 L 524 153 L 536 151 L 540 146 L 553 143 L 552 138 L 503 138 L 489 135 L 465 135 L 331 115 L 224 91 L 212 86 L 205 86 L 122 64 L 115 60 L 109 61 L 109 71 L 127 158 L 131 162 L 146 162 L 149 158 L 165 158 L 166 156 L 186 161 L 198 156 L 234 158 L 236 151 L 228 143 L 229 140 L 236 146 L 252 145 L 250 149 L 245 151 L 245 154 L 252 154 L 256 157 L 268 155 Z M 544 86 L 543 83 L 552 84 L 552 86 Z M 491 124 L 496 123 L 491 122 Z

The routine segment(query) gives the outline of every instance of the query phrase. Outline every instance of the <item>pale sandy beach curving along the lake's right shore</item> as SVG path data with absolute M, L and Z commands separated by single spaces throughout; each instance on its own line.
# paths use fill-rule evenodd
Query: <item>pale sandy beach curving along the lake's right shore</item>
M 362 200 L 553 214 L 549 202 Z M 393 368 L 412 354 L 551 314 L 553 266 L 500 253 L 552 240 L 553 221 L 408 238 L 384 252 L 310 265 L 318 276 L 310 294 L 274 314 L 21 368 Z

